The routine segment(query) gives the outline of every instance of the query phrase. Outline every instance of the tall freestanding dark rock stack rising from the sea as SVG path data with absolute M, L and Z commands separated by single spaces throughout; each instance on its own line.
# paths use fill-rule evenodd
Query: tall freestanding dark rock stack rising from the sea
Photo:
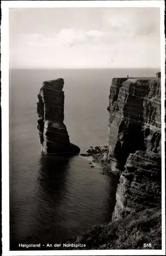
M 77 155 L 80 148 L 69 141 L 64 120 L 64 80 L 44 81 L 38 94 L 37 128 L 44 154 Z

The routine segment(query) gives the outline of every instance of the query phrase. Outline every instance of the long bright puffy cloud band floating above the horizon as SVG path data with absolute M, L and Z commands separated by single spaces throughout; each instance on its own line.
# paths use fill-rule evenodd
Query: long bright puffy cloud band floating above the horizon
M 89 44 L 92 46 L 115 44 L 116 42 L 125 40 L 125 36 L 122 38 L 122 34 L 117 34 L 112 31 L 101 31 L 101 30 L 81 30 L 81 29 L 61 29 L 54 35 L 43 35 L 43 34 L 21 34 L 15 36 L 15 45 L 25 46 L 55 46 L 55 47 L 66 47 Z M 10 41 L 13 44 L 13 40 Z

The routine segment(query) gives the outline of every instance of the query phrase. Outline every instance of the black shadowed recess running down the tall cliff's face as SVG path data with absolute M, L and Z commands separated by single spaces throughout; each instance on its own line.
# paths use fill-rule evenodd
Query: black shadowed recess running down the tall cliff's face
M 114 154 L 120 166 L 125 165 L 131 153 L 138 150 L 146 151 L 145 135 L 142 126 L 144 125 L 144 99 L 149 92 L 147 82 L 142 82 L 141 86 L 143 89 L 141 90 L 137 82 L 130 83 L 128 101 L 123 110 L 124 120 L 122 120 L 118 127 L 119 138 L 114 148 Z M 122 134 L 123 137 L 120 139 Z

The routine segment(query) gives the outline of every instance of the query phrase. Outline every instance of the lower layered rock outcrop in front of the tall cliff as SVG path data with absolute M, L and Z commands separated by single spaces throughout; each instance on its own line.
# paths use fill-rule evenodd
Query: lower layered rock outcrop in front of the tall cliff
M 112 219 L 161 207 L 161 156 L 149 150 L 130 154 L 116 190 Z

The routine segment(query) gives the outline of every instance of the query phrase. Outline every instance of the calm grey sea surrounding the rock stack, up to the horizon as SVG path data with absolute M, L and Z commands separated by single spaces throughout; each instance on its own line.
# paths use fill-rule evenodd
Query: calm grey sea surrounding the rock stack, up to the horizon
M 40 153 L 37 94 L 44 80 L 65 81 L 65 124 L 85 152 L 107 144 L 112 77 L 155 76 L 158 70 L 10 71 L 10 249 L 19 243 L 58 243 L 111 219 L 118 179 L 89 160 Z M 45 249 L 43 247 L 43 249 Z

